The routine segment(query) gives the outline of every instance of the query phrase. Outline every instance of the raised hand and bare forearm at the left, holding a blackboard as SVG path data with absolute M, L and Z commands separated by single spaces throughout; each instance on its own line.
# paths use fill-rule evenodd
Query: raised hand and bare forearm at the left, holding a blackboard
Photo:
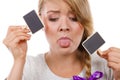
M 29 32 L 28 29 L 23 29 L 21 26 L 10 26 L 8 28 L 3 43 L 11 51 L 14 58 L 14 64 L 7 80 L 22 80 L 27 51 L 27 40 L 30 39 L 30 35 L 27 34 Z

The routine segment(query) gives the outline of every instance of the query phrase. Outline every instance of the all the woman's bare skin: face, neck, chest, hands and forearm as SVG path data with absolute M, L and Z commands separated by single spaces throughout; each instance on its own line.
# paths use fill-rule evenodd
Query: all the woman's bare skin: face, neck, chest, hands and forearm
M 45 24 L 45 34 L 50 45 L 50 51 L 46 53 L 45 59 L 51 71 L 61 77 L 79 74 L 83 66 L 76 54 L 84 27 L 76 20 L 75 15 L 63 0 L 46 2 L 40 17 Z M 23 29 L 22 26 L 10 26 L 8 29 L 3 43 L 14 58 L 8 80 L 22 80 L 27 41 L 31 37 L 29 32 L 29 29 Z M 120 80 L 118 75 L 120 74 L 120 49 L 112 47 L 99 53 L 114 70 L 115 79 Z

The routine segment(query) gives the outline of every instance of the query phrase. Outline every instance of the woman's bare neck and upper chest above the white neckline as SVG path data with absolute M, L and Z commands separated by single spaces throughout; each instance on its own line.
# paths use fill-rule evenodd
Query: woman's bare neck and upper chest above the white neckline
M 77 58 L 77 52 L 67 55 L 48 52 L 46 62 L 52 72 L 62 77 L 78 75 L 82 70 L 80 60 Z

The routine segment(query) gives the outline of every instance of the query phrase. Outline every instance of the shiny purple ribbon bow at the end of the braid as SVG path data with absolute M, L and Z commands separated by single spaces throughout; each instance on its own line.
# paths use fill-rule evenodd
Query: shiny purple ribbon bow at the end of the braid
M 97 80 L 103 77 L 103 73 L 100 71 L 96 71 L 95 73 L 93 73 L 88 79 L 86 78 L 82 78 L 79 76 L 73 76 L 73 80 Z

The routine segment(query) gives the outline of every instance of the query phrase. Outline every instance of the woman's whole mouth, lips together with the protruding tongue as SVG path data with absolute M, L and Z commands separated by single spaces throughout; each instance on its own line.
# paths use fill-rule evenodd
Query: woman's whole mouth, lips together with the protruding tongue
M 68 37 L 61 37 L 58 40 L 58 45 L 62 48 L 68 48 L 70 46 L 71 39 Z

